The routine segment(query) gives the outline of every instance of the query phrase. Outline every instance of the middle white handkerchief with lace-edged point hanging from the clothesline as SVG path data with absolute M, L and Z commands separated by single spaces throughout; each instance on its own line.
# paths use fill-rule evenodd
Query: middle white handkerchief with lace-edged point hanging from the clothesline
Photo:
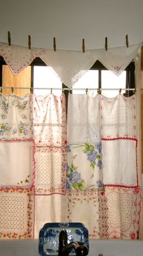
M 47 66 L 51 66 L 61 81 L 72 87 L 88 69 L 93 66 L 97 58 L 90 51 L 84 54 L 82 51 L 47 50 L 41 59 Z

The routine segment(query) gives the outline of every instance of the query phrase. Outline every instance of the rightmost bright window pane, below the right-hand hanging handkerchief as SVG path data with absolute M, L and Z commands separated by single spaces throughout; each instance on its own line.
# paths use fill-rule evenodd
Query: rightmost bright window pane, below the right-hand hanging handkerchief
M 116 76 L 113 72 L 108 70 L 101 71 L 101 83 L 102 88 L 125 88 L 126 83 L 126 71 L 123 71 L 120 76 Z M 121 93 L 125 93 L 125 90 L 122 90 Z M 114 98 L 119 94 L 118 90 L 102 90 L 102 95 L 108 98 Z

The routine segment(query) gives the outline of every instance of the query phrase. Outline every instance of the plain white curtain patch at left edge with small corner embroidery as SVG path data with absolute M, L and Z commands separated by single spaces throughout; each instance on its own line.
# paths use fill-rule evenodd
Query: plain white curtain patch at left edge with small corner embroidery
M 32 185 L 33 180 L 33 141 L 0 142 L 0 185 Z

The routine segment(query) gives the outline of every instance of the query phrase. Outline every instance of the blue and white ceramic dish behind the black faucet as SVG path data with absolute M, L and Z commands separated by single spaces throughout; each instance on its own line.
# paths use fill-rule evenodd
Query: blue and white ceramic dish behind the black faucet
M 80 222 L 51 222 L 46 223 L 39 232 L 39 255 L 47 256 L 58 255 L 59 233 L 62 229 L 67 230 L 68 243 L 80 241 L 88 243 L 88 229 Z M 74 256 L 75 251 L 71 251 L 70 255 Z

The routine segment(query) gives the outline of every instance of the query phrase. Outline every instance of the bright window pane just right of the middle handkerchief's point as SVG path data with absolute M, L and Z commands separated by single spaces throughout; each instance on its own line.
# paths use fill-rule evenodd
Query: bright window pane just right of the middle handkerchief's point
M 98 70 L 88 70 L 72 88 L 98 88 Z M 73 90 L 73 93 L 84 94 L 85 90 Z M 88 91 L 91 95 L 95 93 L 97 91 Z

